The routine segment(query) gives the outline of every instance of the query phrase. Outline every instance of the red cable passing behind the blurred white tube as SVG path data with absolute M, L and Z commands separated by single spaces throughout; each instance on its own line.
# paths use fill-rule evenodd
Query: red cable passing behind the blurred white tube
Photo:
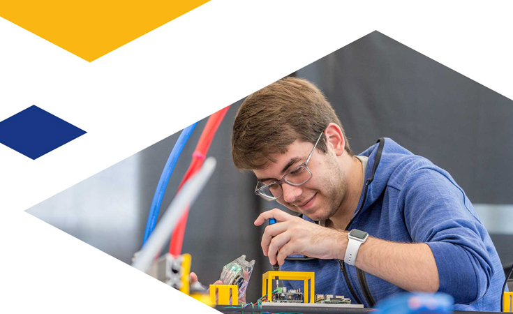
M 228 109 L 230 109 L 230 106 L 225 107 L 219 110 L 218 112 L 215 112 L 214 114 L 211 114 L 211 116 L 209 117 L 207 124 L 205 125 L 205 128 L 203 128 L 203 131 L 201 133 L 200 140 L 198 140 L 198 144 L 196 145 L 191 165 L 189 165 L 187 172 L 184 175 L 184 178 L 181 180 L 178 190 L 180 190 L 181 186 L 183 186 L 184 183 L 191 176 L 193 176 L 195 172 L 197 172 L 200 169 L 203 160 L 205 160 L 205 156 L 207 156 L 210 144 L 214 139 L 214 136 L 216 135 L 216 131 L 219 125 L 221 124 L 221 121 L 223 121 L 223 118 L 225 117 L 225 114 L 228 111 Z M 183 216 L 181 216 L 181 219 L 171 236 L 169 246 L 169 253 L 171 255 L 177 256 L 181 254 L 181 247 L 184 244 L 184 234 L 185 227 L 187 224 L 187 217 L 188 209 L 186 209 Z

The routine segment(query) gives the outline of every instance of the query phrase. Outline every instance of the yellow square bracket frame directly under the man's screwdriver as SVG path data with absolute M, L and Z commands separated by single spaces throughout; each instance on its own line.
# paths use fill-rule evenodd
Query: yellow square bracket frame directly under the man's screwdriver
M 310 281 L 310 302 L 315 302 L 315 273 L 313 271 L 267 271 L 262 275 L 262 297 L 272 292 L 272 282 L 278 277 L 285 281 L 304 281 L 304 303 L 308 298 L 308 281 Z M 267 298 L 272 301 L 272 297 Z

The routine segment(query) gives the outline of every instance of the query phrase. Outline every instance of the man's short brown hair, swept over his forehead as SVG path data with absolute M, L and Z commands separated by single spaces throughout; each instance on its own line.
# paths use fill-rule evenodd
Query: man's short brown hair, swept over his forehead
M 232 131 L 232 158 L 239 170 L 258 170 L 271 154 L 285 154 L 295 140 L 315 144 L 329 123 L 340 126 L 345 151 L 352 155 L 339 117 L 322 91 L 307 80 L 285 77 L 244 100 Z M 327 153 L 325 135 L 317 148 Z

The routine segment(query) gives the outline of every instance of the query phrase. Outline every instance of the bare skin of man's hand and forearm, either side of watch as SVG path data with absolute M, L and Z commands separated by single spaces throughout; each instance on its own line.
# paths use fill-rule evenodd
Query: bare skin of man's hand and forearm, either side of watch
M 255 225 L 269 218 L 278 220 L 265 227 L 262 236 L 262 251 L 271 264 L 278 260 L 282 265 L 285 257 L 294 253 L 344 259 L 348 232 L 321 227 L 279 209 L 260 214 Z M 439 288 L 435 257 L 424 243 L 404 244 L 369 237 L 359 248 L 355 266 L 404 290 L 436 292 Z

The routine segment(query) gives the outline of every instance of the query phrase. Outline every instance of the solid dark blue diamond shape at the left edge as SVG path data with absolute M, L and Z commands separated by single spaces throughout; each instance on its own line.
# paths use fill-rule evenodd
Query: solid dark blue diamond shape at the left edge
M 0 143 L 32 159 L 85 133 L 36 105 L 0 122 Z

